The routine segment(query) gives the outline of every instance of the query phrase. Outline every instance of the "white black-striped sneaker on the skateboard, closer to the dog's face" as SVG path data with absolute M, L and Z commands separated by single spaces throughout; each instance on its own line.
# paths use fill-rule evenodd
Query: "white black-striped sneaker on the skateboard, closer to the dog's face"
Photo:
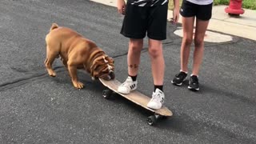
M 122 94 L 129 94 L 130 91 L 137 89 L 137 81 L 128 76 L 126 82 L 123 82 L 121 86 L 118 86 L 118 92 Z

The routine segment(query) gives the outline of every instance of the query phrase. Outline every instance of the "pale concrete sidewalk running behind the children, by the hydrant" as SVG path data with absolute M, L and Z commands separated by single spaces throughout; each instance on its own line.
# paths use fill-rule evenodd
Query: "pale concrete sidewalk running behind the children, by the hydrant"
M 116 6 L 116 0 L 90 0 L 108 6 Z M 210 19 L 208 30 L 218 31 L 224 34 L 236 35 L 242 38 L 249 38 L 256 41 L 256 10 L 245 10 L 245 13 L 238 18 L 232 18 L 226 14 L 226 6 L 214 6 L 213 15 Z M 168 20 L 172 18 L 172 10 L 168 10 Z M 179 18 L 182 23 L 182 18 Z

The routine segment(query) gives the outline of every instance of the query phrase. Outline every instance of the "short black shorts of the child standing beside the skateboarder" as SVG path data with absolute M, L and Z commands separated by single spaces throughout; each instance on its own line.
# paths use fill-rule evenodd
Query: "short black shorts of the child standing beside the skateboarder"
M 196 17 L 203 21 L 209 21 L 212 14 L 213 3 L 209 5 L 197 5 L 183 0 L 179 13 L 182 17 Z

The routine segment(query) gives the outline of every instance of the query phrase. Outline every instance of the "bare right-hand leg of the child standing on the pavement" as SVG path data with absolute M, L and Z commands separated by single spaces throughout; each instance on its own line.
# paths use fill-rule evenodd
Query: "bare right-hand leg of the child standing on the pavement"
M 200 65 L 202 63 L 204 51 L 204 37 L 209 21 L 202 21 L 197 18 L 196 28 L 194 34 L 194 61 L 193 61 L 193 75 L 198 75 Z

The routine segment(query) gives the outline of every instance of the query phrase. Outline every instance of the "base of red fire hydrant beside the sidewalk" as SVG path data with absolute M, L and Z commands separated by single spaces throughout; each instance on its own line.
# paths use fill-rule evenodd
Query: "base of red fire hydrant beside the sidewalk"
M 242 0 L 230 0 L 230 6 L 226 7 L 225 11 L 231 15 L 243 14 L 245 10 L 242 9 Z

